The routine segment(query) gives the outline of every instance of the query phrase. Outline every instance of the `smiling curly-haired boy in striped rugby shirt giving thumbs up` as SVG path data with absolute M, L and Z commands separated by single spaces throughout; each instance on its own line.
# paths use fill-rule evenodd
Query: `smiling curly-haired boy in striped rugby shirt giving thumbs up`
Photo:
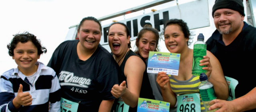
M 37 62 L 46 48 L 36 36 L 16 34 L 7 45 L 17 68 L 0 78 L 0 112 L 60 112 L 60 84 L 54 70 Z

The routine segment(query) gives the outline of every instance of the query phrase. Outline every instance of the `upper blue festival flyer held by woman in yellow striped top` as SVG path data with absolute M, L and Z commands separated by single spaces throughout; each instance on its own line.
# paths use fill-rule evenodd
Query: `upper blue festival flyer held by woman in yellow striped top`
M 169 75 L 178 75 L 180 54 L 167 52 L 149 52 L 147 73 L 166 72 Z

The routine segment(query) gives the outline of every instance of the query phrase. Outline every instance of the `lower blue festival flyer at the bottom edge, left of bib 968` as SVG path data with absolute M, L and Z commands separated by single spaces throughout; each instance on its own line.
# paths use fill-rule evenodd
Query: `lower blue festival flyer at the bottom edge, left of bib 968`
M 137 112 L 169 112 L 170 103 L 139 98 Z

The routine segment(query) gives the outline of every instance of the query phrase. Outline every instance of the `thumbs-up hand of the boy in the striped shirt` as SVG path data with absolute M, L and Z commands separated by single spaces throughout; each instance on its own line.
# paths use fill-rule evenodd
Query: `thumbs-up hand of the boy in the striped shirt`
M 32 96 L 28 92 L 22 91 L 23 86 L 20 84 L 17 96 L 12 100 L 12 103 L 16 109 L 20 108 L 20 106 L 29 106 L 32 104 Z

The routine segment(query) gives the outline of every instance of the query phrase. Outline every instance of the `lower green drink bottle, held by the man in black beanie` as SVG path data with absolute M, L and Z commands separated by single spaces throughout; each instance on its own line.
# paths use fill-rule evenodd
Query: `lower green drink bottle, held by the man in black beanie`
M 208 78 L 204 73 L 200 74 L 200 81 L 201 84 L 198 86 L 198 88 L 202 98 L 202 102 L 204 104 L 204 107 L 206 108 L 206 112 L 215 112 L 216 110 L 218 110 L 218 108 L 214 110 L 208 110 L 210 107 L 209 103 L 212 100 L 216 99 L 213 84 L 211 82 L 208 82 Z

